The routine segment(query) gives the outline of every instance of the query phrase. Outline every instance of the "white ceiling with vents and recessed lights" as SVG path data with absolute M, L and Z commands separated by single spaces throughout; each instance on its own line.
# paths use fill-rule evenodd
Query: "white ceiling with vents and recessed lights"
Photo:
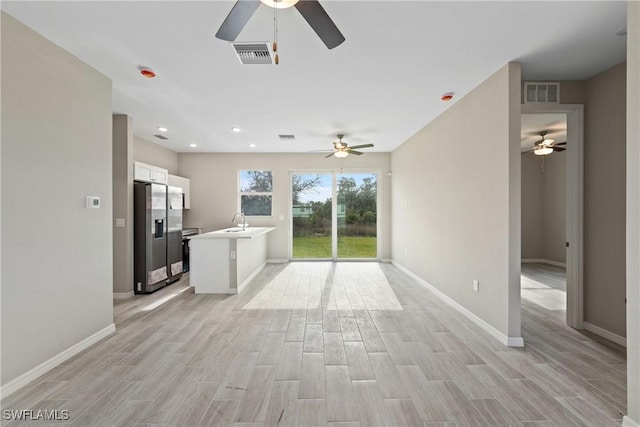
M 109 76 L 113 111 L 133 116 L 136 135 L 177 152 L 306 152 L 330 148 L 338 133 L 391 151 L 509 61 L 523 64 L 525 80 L 581 80 L 626 55 L 616 35 L 626 2 L 324 0 L 342 45 L 328 50 L 295 8 L 280 10 L 280 65 L 243 66 L 214 37 L 233 5 L 1 7 Z M 273 9 L 261 5 L 238 41 L 272 35 Z M 140 66 L 157 77 L 142 77 Z M 454 101 L 440 101 L 449 91 Z M 153 136 L 158 126 L 169 140 Z M 296 139 L 280 141 L 283 133 Z

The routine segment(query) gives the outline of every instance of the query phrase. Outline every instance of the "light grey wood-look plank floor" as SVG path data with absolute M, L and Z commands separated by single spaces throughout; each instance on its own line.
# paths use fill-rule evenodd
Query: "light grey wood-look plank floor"
M 523 267 L 524 349 L 389 264 L 267 265 L 239 296 L 183 280 L 117 301 L 115 334 L 2 406 L 74 426 L 620 425 L 624 352 L 564 326 L 545 276 L 562 282 Z

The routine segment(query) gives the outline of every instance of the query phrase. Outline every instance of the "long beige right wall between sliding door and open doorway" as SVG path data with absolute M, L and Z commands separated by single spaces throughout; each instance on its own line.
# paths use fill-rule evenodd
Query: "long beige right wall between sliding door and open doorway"
M 508 64 L 391 156 L 394 261 L 509 337 L 520 336 L 519 142 L 520 65 Z

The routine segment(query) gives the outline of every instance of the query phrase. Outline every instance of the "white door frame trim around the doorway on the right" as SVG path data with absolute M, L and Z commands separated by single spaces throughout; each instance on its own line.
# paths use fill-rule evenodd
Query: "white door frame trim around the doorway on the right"
M 567 325 L 583 329 L 584 321 L 584 106 L 522 104 L 521 114 L 567 115 Z

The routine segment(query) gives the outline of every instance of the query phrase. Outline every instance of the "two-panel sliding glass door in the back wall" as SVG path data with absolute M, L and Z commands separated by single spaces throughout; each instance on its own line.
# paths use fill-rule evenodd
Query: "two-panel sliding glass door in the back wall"
M 291 258 L 377 258 L 377 196 L 376 173 L 293 173 Z

